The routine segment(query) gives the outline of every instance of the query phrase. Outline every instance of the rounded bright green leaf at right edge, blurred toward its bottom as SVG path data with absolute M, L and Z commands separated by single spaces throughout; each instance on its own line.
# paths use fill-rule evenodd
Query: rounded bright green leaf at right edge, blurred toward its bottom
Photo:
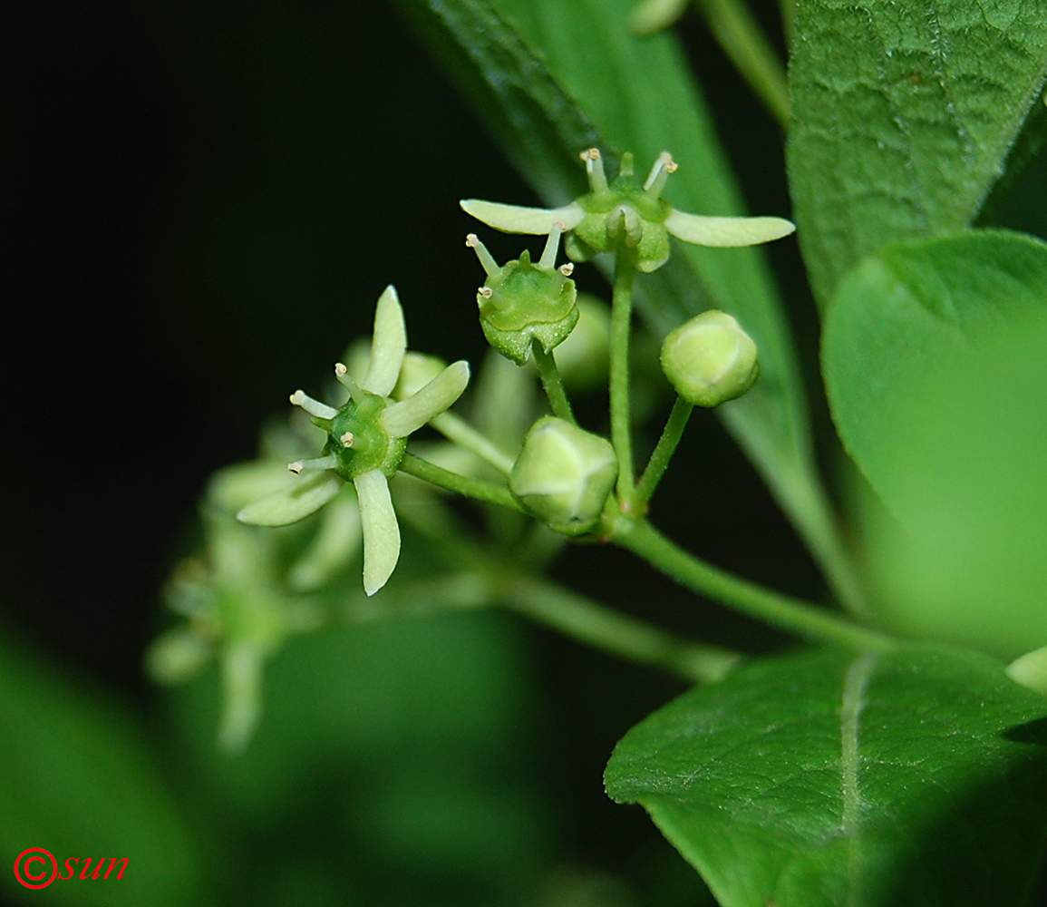
M 866 507 L 876 610 L 1012 658 L 1047 643 L 1047 245 L 889 246 L 826 320 L 832 416 L 900 526 Z

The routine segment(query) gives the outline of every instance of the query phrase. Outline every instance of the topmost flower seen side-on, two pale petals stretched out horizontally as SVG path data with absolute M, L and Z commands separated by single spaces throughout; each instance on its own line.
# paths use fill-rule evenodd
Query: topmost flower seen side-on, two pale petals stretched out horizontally
M 520 207 L 465 199 L 462 208 L 506 233 L 548 234 L 559 222 L 570 230 L 567 255 L 585 261 L 597 252 L 624 250 L 641 271 L 653 271 L 669 260 L 669 235 L 704 246 L 750 246 L 781 239 L 796 226 L 778 217 L 704 217 L 676 211 L 662 196 L 676 163 L 663 152 L 647 180 L 633 175 L 631 154 L 622 156 L 618 176 L 608 183 L 600 152 L 581 153 L 589 192 L 558 208 Z

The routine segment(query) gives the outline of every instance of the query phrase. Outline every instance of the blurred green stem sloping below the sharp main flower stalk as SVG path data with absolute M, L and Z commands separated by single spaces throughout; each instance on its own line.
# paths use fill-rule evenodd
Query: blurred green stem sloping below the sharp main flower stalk
M 538 579 L 518 579 L 499 597 L 508 607 L 595 648 L 691 681 L 720 680 L 737 652 L 682 640 L 660 627 Z

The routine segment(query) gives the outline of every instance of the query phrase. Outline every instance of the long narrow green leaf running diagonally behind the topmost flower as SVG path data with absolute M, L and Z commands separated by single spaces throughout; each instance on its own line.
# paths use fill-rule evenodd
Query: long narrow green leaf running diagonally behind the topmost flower
M 695 214 L 744 214 L 680 44 L 669 34 L 632 35 L 631 5 L 401 2 L 547 204 L 562 205 L 586 191 L 578 162 L 586 147 L 600 147 L 611 173 L 619 152 L 632 151 L 643 169 L 669 149 L 680 162 L 666 187 L 669 201 Z M 638 303 L 662 336 L 719 308 L 756 340 L 760 380 L 720 415 L 838 594 L 855 603 L 860 593 L 814 465 L 796 353 L 762 250 L 675 243 L 668 265 L 638 283 Z

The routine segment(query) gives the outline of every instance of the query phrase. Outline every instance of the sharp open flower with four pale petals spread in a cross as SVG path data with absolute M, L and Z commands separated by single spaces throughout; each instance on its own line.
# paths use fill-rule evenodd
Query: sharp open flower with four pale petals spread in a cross
M 335 363 L 335 377 L 349 391 L 349 401 L 336 410 L 303 391 L 291 395 L 291 402 L 302 406 L 327 433 L 322 456 L 289 464 L 292 472 L 302 473 L 297 482 L 237 514 L 242 523 L 261 526 L 295 523 L 334 499 L 343 482 L 352 482 L 363 527 L 363 588 L 367 595 L 385 584 L 400 556 L 400 527 L 388 479 L 403 459 L 407 436 L 450 407 L 469 381 L 469 364 L 458 361 L 405 399 L 393 399 L 406 346 L 403 310 L 389 286 L 375 310 L 371 363 L 363 381 L 357 384 L 341 362 Z

